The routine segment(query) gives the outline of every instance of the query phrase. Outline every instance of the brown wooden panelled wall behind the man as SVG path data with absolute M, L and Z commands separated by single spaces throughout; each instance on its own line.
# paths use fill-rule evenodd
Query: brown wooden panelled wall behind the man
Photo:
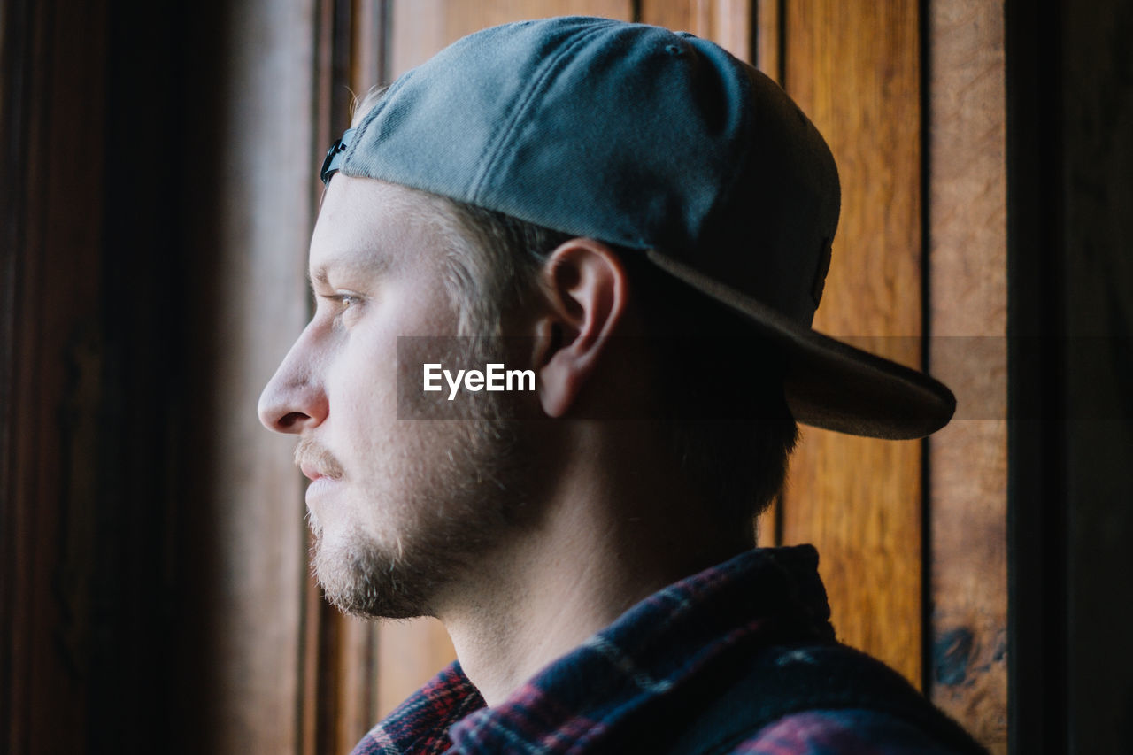
M 574 12 L 689 29 L 780 80 L 827 136 L 843 181 L 816 325 L 928 365 L 960 398 L 960 418 L 929 442 L 804 430 L 760 542 L 816 543 L 842 638 L 900 669 L 994 752 L 1006 752 L 1016 704 L 1016 741 L 1033 741 L 1034 711 L 1054 721 L 1073 710 L 1091 727 L 1119 718 L 1117 703 L 1096 706 L 1088 693 L 1090 675 L 1105 672 L 1088 646 L 1115 639 L 1090 621 L 1106 610 L 1101 597 L 1073 602 L 1070 626 L 1084 639 L 1067 655 L 1082 670 L 1043 677 L 1068 677 L 1068 697 L 1040 699 L 1017 668 L 1007 695 L 1008 647 L 1040 665 L 1049 656 L 1040 651 L 1065 650 L 1057 631 L 1030 641 L 1067 604 L 1062 593 L 1042 599 L 1032 580 L 1013 593 L 1022 597 L 1008 626 L 1010 533 L 1013 585 L 1026 584 L 1020 569 L 1041 565 L 1077 575 L 1070 584 L 1104 579 L 1119 558 L 1109 509 L 1088 500 L 1098 487 L 1073 499 L 1073 571 L 1020 537 L 1053 537 L 1071 497 L 1055 486 L 1042 493 L 1045 519 L 1017 515 L 1028 511 L 1017 499 L 1013 525 L 1007 517 L 1010 475 L 1016 491 L 1038 490 L 1007 455 L 1010 432 L 1019 438 L 1007 385 L 1025 388 L 1008 374 L 1004 338 L 1007 275 L 1019 270 L 1008 249 L 1033 238 L 1023 219 L 1062 206 L 1062 195 L 1008 187 L 1008 164 L 1033 178 L 1020 154 L 1041 162 L 1047 152 L 1021 126 L 1038 117 L 1039 95 L 1006 92 L 1012 28 L 1002 2 L 210 0 L 155 14 L 140 0 L 80 12 L 9 0 L 0 5 L 6 752 L 346 752 L 451 658 L 435 622 L 376 627 L 325 605 L 307 576 L 290 443 L 259 427 L 255 401 L 307 317 L 315 170 L 346 127 L 350 92 L 483 26 Z M 1072 18 L 1067 49 L 1088 49 L 1106 28 L 1104 16 Z M 1049 70 L 1024 52 L 1053 31 L 1020 23 L 1013 33 L 1014 60 L 1030 62 L 1012 80 Z M 1101 62 L 1102 52 L 1075 60 L 1121 80 L 1117 43 L 1105 50 Z M 1117 138 L 1094 127 L 1109 122 L 1105 102 L 1100 86 L 1085 87 L 1067 111 L 1077 147 L 1058 154 L 1067 172 L 1101 187 L 1065 203 L 1074 228 L 1104 226 L 1111 207 L 1097 197 L 1128 189 L 1097 156 Z M 1081 243 L 1114 249 L 1118 236 L 1083 231 Z M 1105 278 L 1098 265 L 1067 282 L 1079 300 Z M 1121 297 L 1111 300 L 1119 309 Z M 1074 390 L 1088 391 L 1079 380 Z M 1125 442 L 1115 427 L 1107 438 Z M 1077 468 L 1115 475 L 1096 435 L 1075 433 Z M 1091 555 L 1099 540 L 1106 558 Z M 1116 677 L 1106 688 L 1123 699 Z

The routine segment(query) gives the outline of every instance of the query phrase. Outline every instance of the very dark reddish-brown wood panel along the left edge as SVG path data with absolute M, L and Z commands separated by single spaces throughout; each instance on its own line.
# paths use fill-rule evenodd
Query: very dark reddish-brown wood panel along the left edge
M 68 10 L 0 8 L 0 749 L 14 754 L 85 752 L 94 707 L 108 9 Z

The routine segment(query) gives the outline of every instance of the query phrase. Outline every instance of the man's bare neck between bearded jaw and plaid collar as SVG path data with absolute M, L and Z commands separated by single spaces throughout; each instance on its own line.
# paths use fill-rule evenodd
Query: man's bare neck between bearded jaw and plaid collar
M 540 501 L 538 521 L 438 605 L 461 667 L 488 705 L 638 601 L 750 546 L 750 537 L 706 528 L 709 517 L 678 475 L 627 464 L 624 449 L 633 446 L 605 440 L 577 444 Z

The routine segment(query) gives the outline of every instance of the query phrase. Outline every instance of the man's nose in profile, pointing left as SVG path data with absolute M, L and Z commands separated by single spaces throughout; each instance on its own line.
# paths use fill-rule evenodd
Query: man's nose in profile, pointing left
M 304 331 L 259 395 L 259 422 L 267 430 L 298 434 L 326 419 L 330 406 L 309 333 Z

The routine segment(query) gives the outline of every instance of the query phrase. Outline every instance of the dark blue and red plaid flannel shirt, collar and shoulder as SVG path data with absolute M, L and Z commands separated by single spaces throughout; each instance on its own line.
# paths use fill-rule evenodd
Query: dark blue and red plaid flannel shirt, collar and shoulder
M 756 549 L 678 582 L 627 611 L 496 707 L 455 662 L 358 743 L 393 753 L 667 752 L 736 660 L 773 645 L 832 642 L 809 545 Z M 948 753 L 921 729 L 866 709 L 792 713 L 723 750 Z

